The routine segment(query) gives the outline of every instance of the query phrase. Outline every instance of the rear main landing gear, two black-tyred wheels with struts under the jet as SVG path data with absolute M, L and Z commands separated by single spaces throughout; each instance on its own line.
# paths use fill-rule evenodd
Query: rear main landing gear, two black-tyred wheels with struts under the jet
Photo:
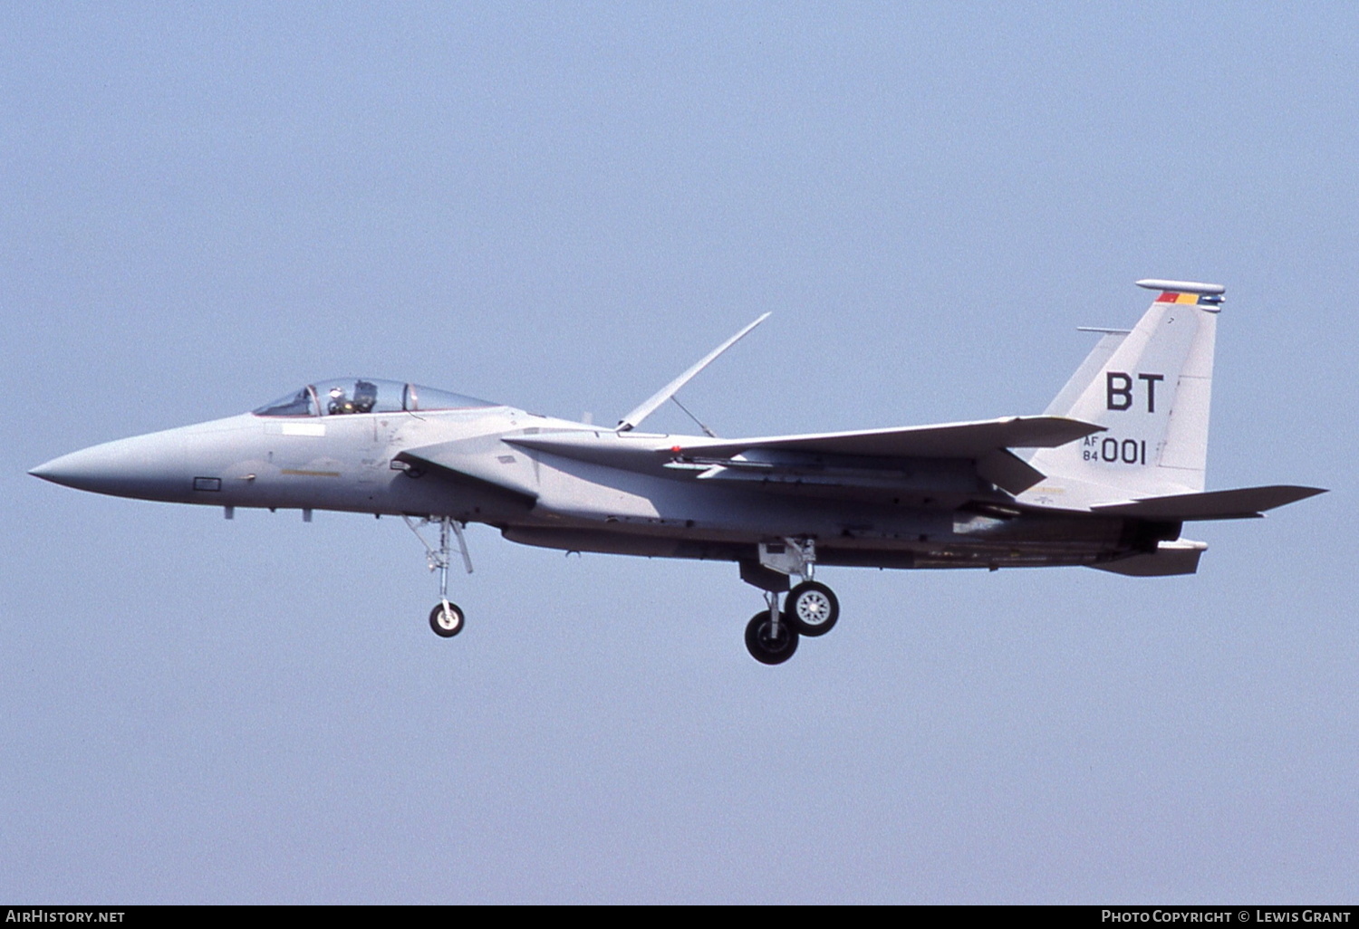
M 765 592 L 766 610 L 746 623 L 746 649 L 761 664 L 783 664 L 798 651 L 802 636 L 817 637 L 830 632 L 840 619 L 840 602 L 825 584 L 811 580 L 817 564 L 817 546 L 811 539 L 761 542 L 760 561 L 741 562 L 741 580 Z M 788 589 L 788 576 L 802 583 Z M 784 608 L 779 595 L 788 591 Z

